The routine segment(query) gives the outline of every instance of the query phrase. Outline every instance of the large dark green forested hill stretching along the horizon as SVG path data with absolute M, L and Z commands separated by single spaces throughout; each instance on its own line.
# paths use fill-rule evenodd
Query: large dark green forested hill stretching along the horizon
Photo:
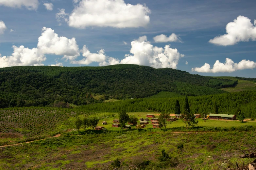
M 119 64 L 105 67 L 16 66 L 0 69 L 0 107 L 75 105 L 95 102 L 89 93 L 116 99 L 144 98 L 161 91 L 180 95 L 225 93 L 236 80 L 192 75 L 171 68 Z

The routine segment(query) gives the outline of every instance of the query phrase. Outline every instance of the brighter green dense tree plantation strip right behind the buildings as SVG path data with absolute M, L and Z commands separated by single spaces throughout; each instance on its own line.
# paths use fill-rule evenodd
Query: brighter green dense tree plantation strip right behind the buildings
M 172 93 L 167 95 L 173 95 Z M 161 97 L 163 96 L 163 97 Z M 100 103 L 94 105 L 85 105 L 76 109 L 87 111 L 100 112 L 119 112 L 126 110 L 127 112 L 153 112 L 153 111 L 168 111 L 174 112 L 176 99 L 179 100 L 181 112 L 185 97 L 164 98 L 163 92 L 161 95 L 153 96 L 152 98 L 130 99 L 118 102 Z M 223 93 L 205 96 L 188 97 L 190 111 L 193 113 L 213 113 L 213 105 L 216 103 L 219 113 L 234 114 L 237 108 L 240 108 L 245 116 L 256 118 L 256 92 L 244 91 L 236 93 Z

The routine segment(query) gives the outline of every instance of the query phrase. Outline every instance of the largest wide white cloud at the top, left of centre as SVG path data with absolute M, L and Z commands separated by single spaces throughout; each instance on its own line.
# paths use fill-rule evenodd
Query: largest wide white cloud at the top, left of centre
M 75 0 L 78 3 L 68 24 L 75 28 L 99 27 L 144 27 L 149 23 L 150 9 L 145 5 L 126 4 L 124 0 Z

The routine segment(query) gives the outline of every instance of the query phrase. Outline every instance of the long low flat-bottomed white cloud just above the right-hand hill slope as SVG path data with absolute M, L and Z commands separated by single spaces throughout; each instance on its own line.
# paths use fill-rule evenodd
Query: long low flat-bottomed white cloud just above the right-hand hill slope
M 192 68 L 192 71 L 201 73 L 218 73 L 218 72 L 233 72 L 236 70 L 253 69 L 256 68 L 256 62 L 250 60 L 242 60 L 239 63 L 234 63 L 231 59 L 226 58 L 225 63 L 220 63 L 219 60 L 215 62 L 211 69 L 210 64 L 205 63 L 202 67 Z

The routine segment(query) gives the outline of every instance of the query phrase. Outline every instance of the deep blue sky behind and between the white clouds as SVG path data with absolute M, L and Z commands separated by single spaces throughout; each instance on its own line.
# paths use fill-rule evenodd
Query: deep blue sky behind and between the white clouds
M 256 35 L 254 35 L 254 32 L 250 35 L 251 37 L 248 41 L 238 41 L 234 45 L 224 46 L 217 44 L 220 41 L 217 43 L 209 42 L 210 39 L 216 36 L 227 34 L 226 25 L 229 22 L 233 22 L 238 16 L 247 17 L 253 24 L 256 19 L 256 2 L 254 0 L 125 0 L 124 2 L 134 6 L 136 4 L 145 4 L 144 7 L 151 11 L 146 14 L 149 16 L 150 21 L 139 27 L 124 26 L 123 28 L 118 28 L 116 26 L 102 27 L 93 25 L 77 28 L 76 26 L 70 26 L 63 18 L 71 15 L 75 6 L 79 6 L 80 2 L 75 3 L 72 0 L 39 0 L 37 9 L 28 10 L 24 5 L 21 7 L 10 7 L 7 4 L 1 5 L 0 0 L 0 21 L 3 21 L 6 25 L 4 33 L 0 34 L 0 54 L 2 57 L 11 56 L 14 51 L 13 45 L 16 47 L 24 46 L 29 49 L 37 48 L 38 38 L 43 32 L 43 27 L 46 27 L 54 30 L 54 33 L 58 34 L 59 37 L 63 36 L 68 39 L 75 37 L 81 53 L 80 56 L 76 56 L 76 59 L 67 60 L 67 58 L 63 58 L 63 55 L 56 55 L 58 52 L 51 53 L 47 51 L 42 54 L 45 59 L 41 61 L 41 64 L 61 63 L 63 66 L 98 66 L 99 62 L 94 62 L 94 60 L 91 60 L 90 64 L 84 64 L 88 63 L 86 61 L 81 62 L 87 57 L 82 55 L 84 45 L 90 51 L 90 57 L 100 57 L 91 54 L 99 54 L 97 51 L 104 49 L 104 56 L 112 57 L 121 62 L 126 54 L 130 56 L 138 55 L 130 53 L 130 50 L 131 48 L 135 49 L 136 44 L 142 43 L 142 41 L 135 39 L 146 35 L 147 38 L 144 40 L 144 45 L 151 44 L 153 47 L 161 48 L 164 48 L 165 45 L 170 45 L 169 48 L 178 49 L 177 69 L 203 76 L 256 77 L 256 68 L 252 63 L 250 63 L 249 68 L 238 66 L 240 69 L 234 69 L 233 71 L 209 71 L 209 69 L 204 69 L 203 71 L 202 69 L 197 69 L 195 71 L 195 69 L 192 72 L 192 68 L 200 68 L 205 63 L 210 64 L 212 69 L 216 60 L 219 60 L 220 63 L 225 63 L 226 58 L 231 59 L 234 63 L 239 63 L 242 60 L 256 62 L 256 41 L 253 39 Z M 46 10 L 44 3 L 52 3 L 53 10 Z M 67 14 L 60 22 L 56 20 L 56 14 L 60 12 L 59 9 L 65 9 Z M 14 31 L 10 32 L 11 29 Z M 153 39 L 157 35 L 164 34 L 169 36 L 172 33 L 180 37 L 182 42 L 156 43 Z M 124 44 L 123 41 L 127 44 Z M 131 42 L 135 42 L 133 47 Z M 184 57 L 180 54 L 184 54 Z M 141 57 L 143 58 L 143 56 Z M 134 62 L 131 60 L 133 60 L 132 57 L 129 62 Z M 185 64 L 186 62 L 188 64 Z M 140 64 L 144 65 L 143 63 L 140 61 Z M 148 61 L 145 63 L 150 65 Z M 154 65 L 156 68 L 160 68 L 160 66 L 165 67 L 165 64 Z M 175 68 L 169 65 L 168 67 Z

